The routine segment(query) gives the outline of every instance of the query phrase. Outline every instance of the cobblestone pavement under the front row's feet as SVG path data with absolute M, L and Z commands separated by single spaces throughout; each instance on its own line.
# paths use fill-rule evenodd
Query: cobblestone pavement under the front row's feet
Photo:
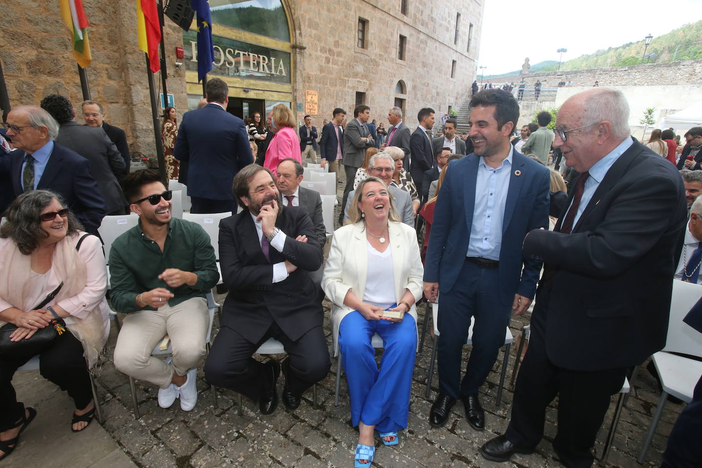
M 218 296 L 218 301 L 223 301 Z M 325 300 L 325 312 L 329 301 Z M 419 323 L 423 323 L 424 307 L 420 307 Z M 512 319 L 512 334 L 517 335 L 528 316 Z M 215 326 L 218 327 L 216 319 Z M 327 341 L 331 349 L 331 327 L 325 319 Z M 114 328 L 114 327 L 113 327 Z M 112 356 L 116 335 L 108 342 L 108 356 Z M 425 385 L 431 356 L 432 337 L 428 336 L 424 349 L 418 354 L 411 390 L 408 428 L 400 432 L 400 443 L 385 447 L 376 438 L 377 467 L 557 467 L 557 457 L 550 441 L 555 436 L 555 406 L 548 408 L 545 439 L 531 455 L 515 455 L 512 462 L 496 464 L 484 460 L 478 449 L 495 434 L 504 432 L 508 424 L 512 392 L 509 381 L 515 362 L 512 347 L 508 366 L 503 403 L 496 406 L 503 352 L 496 361 L 487 382 L 482 387 L 481 399 L 486 410 L 486 430 L 477 432 L 468 426 L 460 404 L 454 407 L 449 422 L 443 428 L 428 424 L 431 401 L 425 399 Z M 594 344 L 593 344 L 594 345 Z M 470 347 L 465 347 L 468 354 Z M 272 356 L 282 359 L 283 356 Z M 260 359 L 267 359 L 260 356 Z M 282 403 L 268 416 L 258 412 L 253 401 L 243 400 L 243 415 L 238 415 L 237 394 L 218 389 L 218 406 L 213 406 L 212 394 L 204 381 L 201 367 L 198 374 L 199 400 L 195 409 L 186 413 L 176 402 L 169 409 L 159 408 L 157 388 L 137 382 L 141 418 L 135 420 L 131 409 L 128 380 L 111 361 L 95 370 L 98 394 L 105 410 L 105 429 L 114 437 L 135 464 L 143 467 L 349 467 L 352 450 L 357 442 L 357 431 L 350 427 L 348 394 L 342 378 L 340 404 L 334 406 L 336 359 L 332 360 L 329 375 L 318 385 L 318 406 L 312 408 L 312 392 L 303 396 L 303 403 L 295 411 L 288 411 Z M 433 399 L 437 377 L 432 387 Z M 282 382 L 279 382 L 279 392 Z M 612 467 L 637 467 L 636 457 L 658 400 L 656 382 L 647 370 L 642 370 L 634 383 L 633 394 L 623 408 L 621 421 L 609 455 Z M 601 455 L 609 422 L 614 413 L 617 396 L 598 434 L 597 455 Z M 647 457 L 651 465 L 659 466 L 667 436 L 682 409 L 682 405 L 668 403 L 658 424 L 656 436 Z

